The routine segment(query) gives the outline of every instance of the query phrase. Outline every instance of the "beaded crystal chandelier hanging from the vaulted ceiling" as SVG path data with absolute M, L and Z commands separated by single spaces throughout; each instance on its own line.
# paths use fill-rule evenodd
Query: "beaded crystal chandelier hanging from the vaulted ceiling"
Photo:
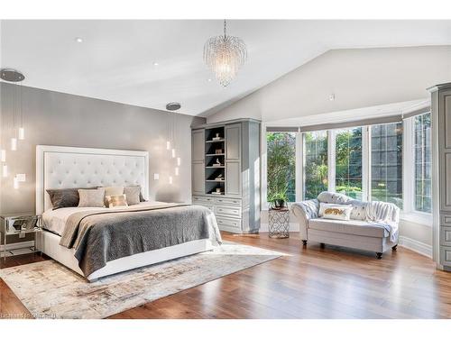
M 238 37 L 227 35 L 227 23 L 224 21 L 224 35 L 214 36 L 204 46 L 204 61 L 219 81 L 227 87 L 236 77 L 238 69 L 247 58 L 246 45 Z

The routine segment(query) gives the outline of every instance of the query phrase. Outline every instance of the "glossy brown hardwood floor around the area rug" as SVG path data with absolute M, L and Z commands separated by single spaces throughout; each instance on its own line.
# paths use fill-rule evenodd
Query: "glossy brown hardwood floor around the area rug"
M 451 273 L 408 249 L 373 252 L 308 243 L 298 233 L 269 239 L 266 233 L 236 236 L 241 242 L 290 254 L 196 288 L 135 307 L 111 318 L 451 318 Z M 16 256 L 4 266 L 38 261 Z M 0 279 L 0 317 L 28 311 Z

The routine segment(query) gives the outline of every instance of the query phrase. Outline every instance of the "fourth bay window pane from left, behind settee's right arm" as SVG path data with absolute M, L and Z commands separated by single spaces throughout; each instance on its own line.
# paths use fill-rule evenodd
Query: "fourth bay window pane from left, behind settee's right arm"
M 371 127 L 371 196 L 402 207 L 402 123 Z

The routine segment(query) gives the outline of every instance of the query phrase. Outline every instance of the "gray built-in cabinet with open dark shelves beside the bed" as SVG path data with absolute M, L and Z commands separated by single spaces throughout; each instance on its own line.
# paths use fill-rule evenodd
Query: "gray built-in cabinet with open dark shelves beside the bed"
M 260 122 L 203 124 L 193 128 L 192 142 L 193 204 L 212 210 L 223 231 L 258 233 Z

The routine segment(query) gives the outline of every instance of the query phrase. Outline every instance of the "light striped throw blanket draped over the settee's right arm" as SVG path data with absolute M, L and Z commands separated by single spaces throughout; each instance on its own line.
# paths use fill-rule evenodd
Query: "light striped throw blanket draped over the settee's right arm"
M 400 208 L 386 202 L 370 202 L 365 207 L 366 221 L 380 225 L 390 233 L 390 241 L 398 242 Z

